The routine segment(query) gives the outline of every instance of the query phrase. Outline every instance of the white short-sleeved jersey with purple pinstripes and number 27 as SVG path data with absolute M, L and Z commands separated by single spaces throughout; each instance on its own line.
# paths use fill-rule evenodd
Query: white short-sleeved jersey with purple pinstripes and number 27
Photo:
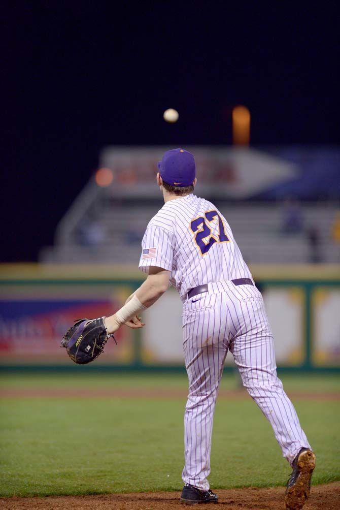
M 194 194 L 169 200 L 149 221 L 139 268 L 149 266 L 171 271 L 182 301 L 198 285 L 252 278 L 226 219 Z

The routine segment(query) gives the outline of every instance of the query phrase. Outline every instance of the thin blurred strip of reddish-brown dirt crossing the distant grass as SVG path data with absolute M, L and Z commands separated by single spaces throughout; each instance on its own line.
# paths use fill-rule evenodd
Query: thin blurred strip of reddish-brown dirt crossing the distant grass
M 169 388 L 1 388 L 0 398 L 187 398 L 187 390 Z M 288 392 L 292 399 L 340 400 L 339 392 L 313 393 L 303 391 Z M 219 398 L 250 398 L 248 393 L 239 390 L 219 391 Z

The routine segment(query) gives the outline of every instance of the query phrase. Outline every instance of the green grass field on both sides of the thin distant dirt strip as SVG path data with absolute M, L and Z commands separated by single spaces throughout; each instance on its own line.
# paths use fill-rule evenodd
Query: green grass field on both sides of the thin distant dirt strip
M 317 453 L 313 483 L 340 480 L 337 375 L 284 376 L 290 391 L 313 392 L 293 399 Z M 14 375 L 0 377 L 20 388 L 186 388 L 179 374 Z M 232 389 L 234 376 L 222 387 Z M 320 394 L 318 396 L 318 393 Z M 185 398 L 12 398 L 1 400 L 1 496 L 67 495 L 179 490 L 183 467 Z M 283 485 L 290 467 L 272 429 L 251 399 L 217 402 L 211 486 Z

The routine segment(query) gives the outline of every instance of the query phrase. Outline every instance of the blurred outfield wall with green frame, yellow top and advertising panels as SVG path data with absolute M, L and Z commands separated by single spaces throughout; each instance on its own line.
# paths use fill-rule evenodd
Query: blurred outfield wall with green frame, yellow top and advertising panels
M 275 337 L 277 365 L 340 371 L 340 266 L 251 267 Z M 110 315 L 143 281 L 129 266 L 0 265 L 0 367 L 81 369 L 59 348 L 80 317 Z M 146 326 L 117 332 L 118 347 L 91 369 L 184 367 L 181 301 L 169 291 L 143 315 Z M 226 365 L 233 365 L 228 355 Z

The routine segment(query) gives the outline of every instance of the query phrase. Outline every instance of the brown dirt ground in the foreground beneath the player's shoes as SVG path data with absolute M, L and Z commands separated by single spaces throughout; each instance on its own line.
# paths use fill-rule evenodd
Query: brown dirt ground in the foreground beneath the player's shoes
M 282 510 L 284 488 L 218 490 L 219 503 L 214 510 L 240 508 L 256 510 Z M 179 492 L 147 492 L 95 496 L 49 496 L 47 498 L 2 498 L 4 510 L 171 510 L 185 508 L 179 502 Z M 340 482 L 312 487 L 311 496 L 304 510 L 338 510 Z M 186 507 L 188 508 L 188 507 Z

